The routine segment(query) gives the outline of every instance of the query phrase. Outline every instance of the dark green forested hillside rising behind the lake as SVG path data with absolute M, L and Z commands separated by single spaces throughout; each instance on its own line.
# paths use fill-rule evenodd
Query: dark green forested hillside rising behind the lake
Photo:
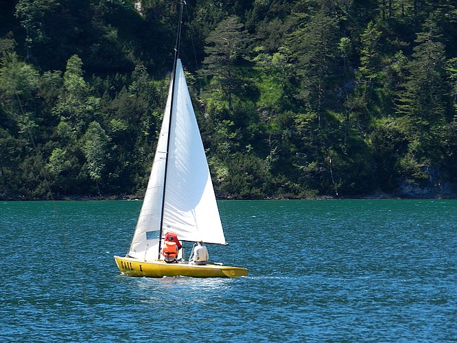
M 142 196 L 178 9 L 0 0 L 0 198 Z M 450 0 L 187 0 L 218 197 L 455 197 L 456 42 Z

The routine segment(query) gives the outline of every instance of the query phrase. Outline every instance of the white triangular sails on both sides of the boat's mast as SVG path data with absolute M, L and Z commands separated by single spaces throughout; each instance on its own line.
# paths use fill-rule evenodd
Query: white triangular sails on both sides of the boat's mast
M 128 253 L 137 259 L 159 257 L 160 232 L 172 231 L 183 241 L 202 239 L 205 243 L 226 244 L 207 157 L 179 59 L 175 80 L 176 85 L 172 80 L 169 87 L 154 164 Z M 171 111 L 172 87 L 175 89 Z M 166 158 L 165 204 L 160 230 Z

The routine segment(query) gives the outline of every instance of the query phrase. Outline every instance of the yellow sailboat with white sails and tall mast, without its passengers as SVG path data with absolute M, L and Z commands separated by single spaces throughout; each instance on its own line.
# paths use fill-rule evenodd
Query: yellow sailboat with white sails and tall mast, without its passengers
M 161 255 L 166 233 L 174 233 L 180 241 L 226 245 L 207 157 L 178 57 L 182 12 L 183 3 L 173 76 L 148 187 L 130 250 L 125 257 L 114 258 L 121 273 L 128 276 L 247 276 L 246 268 L 222 263 L 196 265 L 183 256 L 178 263 L 167 263 Z

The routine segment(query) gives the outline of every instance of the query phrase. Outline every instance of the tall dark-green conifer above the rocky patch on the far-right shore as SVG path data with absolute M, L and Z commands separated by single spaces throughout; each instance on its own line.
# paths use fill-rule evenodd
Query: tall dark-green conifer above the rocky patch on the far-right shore
M 438 41 L 436 26 L 417 34 L 408 77 L 399 93 L 397 114 L 401 115 L 410 139 L 412 169 L 439 165 L 443 160 L 443 128 L 447 108 L 445 47 Z M 415 166 L 415 167 L 414 167 Z M 419 175 L 419 174 L 417 174 Z M 426 175 L 425 175 L 426 176 Z

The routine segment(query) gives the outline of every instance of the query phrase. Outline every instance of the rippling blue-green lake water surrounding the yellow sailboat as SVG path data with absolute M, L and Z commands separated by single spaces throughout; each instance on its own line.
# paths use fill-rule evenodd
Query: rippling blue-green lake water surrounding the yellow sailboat
M 457 200 L 219 202 L 239 279 L 121 275 L 140 206 L 0 202 L 0 341 L 457 341 Z

